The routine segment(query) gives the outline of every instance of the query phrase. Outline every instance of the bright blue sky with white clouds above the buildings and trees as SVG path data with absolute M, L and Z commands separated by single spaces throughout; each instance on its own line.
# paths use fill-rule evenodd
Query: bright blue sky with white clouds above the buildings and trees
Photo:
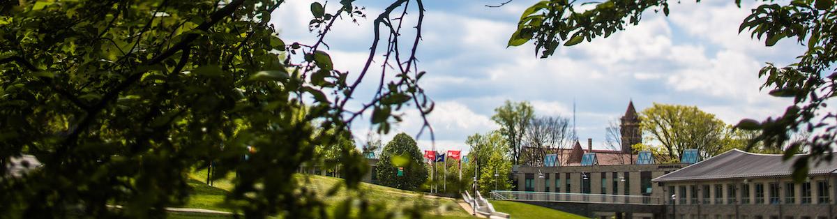
M 357 1 L 369 18 L 337 22 L 326 36 L 335 69 L 360 72 L 372 43 L 372 20 L 385 2 Z M 696 105 L 728 124 L 780 115 L 791 103 L 760 91 L 757 72 L 766 62 L 792 63 L 803 48 L 788 39 L 767 48 L 747 33 L 739 35 L 738 25 L 756 2 L 742 8 L 732 0 L 672 4 L 669 17 L 651 10 L 639 26 L 560 48 L 548 59 L 538 59 L 531 43 L 506 48 L 521 13 L 536 1 L 485 7 L 501 2 L 425 1 L 418 58 L 419 69 L 428 74 L 420 84 L 436 103 L 429 120 L 437 150 L 468 150 L 468 135 L 496 130 L 490 116 L 506 99 L 529 101 L 537 115 L 567 118 L 573 117 L 574 99 L 578 137 L 593 138 L 596 148 L 603 148 L 605 127 L 624 114 L 630 99 L 637 110 L 653 103 Z M 286 43 L 316 41 L 307 28 L 310 4 L 290 1 L 275 12 L 272 23 Z M 338 5 L 331 1 L 326 11 Z M 372 93 L 375 80 L 365 80 L 361 96 Z M 418 113 L 403 113 L 406 120 L 381 137 L 384 143 L 402 131 L 419 133 Z M 352 126 L 359 141 L 370 132 L 366 121 Z M 429 135 L 419 137 L 422 150 L 432 145 Z

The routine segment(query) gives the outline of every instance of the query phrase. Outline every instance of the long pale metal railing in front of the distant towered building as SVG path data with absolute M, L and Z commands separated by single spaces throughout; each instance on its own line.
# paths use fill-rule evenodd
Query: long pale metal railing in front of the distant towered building
M 623 196 L 541 191 L 491 191 L 491 198 L 507 201 L 583 202 L 599 204 L 662 205 L 655 196 Z

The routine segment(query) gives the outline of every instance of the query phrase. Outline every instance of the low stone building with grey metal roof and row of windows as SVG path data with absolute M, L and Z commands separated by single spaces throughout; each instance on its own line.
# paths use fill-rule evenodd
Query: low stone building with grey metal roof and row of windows
M 804 156 L 783 161 L 782 155 L 730 150 L 653 181 L 669 197 L 668 218 L 835 218 L 837 162 L 811 164 L 809 176 L 796 183 L 793 162 Z

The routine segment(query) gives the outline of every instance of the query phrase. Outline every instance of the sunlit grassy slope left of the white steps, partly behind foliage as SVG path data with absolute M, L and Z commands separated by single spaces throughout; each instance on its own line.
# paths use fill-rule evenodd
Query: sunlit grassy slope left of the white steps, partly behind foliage
M 233 189 L 231 179 L 229 176 L 226 179 L 214 181 L 213 186 L 206 185 L 206 171 L 197 171 L 189 175 L 191 178 L 189 186 L 193 187 L 193 196 L 189 197 L 189 201 L 183 206 L 190 208 L 203 208 L 216 211 L 230 211 L 228 206 L 223 205 L 224 196 Z M 426 210 L 425 218 L 473 218 L 465 210 L 456 204 L 453 199 L 424 196 L 419 192 L 403 191 L 388 186 L 378 186 L 369 183 L 361 183 L 359 190 L 348 191 L 346 188 L 338 190 L 334 196 L 326 196 L 326 191 L 332 187 L 342 183 L 342 179 L 329 176 L 306 176 L 296 175 L 297 181 L 307 188 L 317 191 L 329 210 L 333 210 L 336 206 L 345 201 L 347 197 L 362 196 L 372 203 L 377 203 L 383 206 L 384 209 L 394 210 L 405 206 L 423 206 Z M 187 213 L 172 213 L 173 218 L 203 218 L 206 214 L 187 214 Z M 215 216 L 213 218 L 230 218 L 229 216 Z

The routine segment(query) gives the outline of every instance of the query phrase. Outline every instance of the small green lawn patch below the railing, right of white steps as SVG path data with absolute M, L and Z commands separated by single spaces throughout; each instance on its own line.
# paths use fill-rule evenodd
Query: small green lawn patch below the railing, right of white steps
M 490 201 L 496 211 L 511 215 L 511 218 L 587 218 L 576 214 L 557 211 L 552 208 L 535 206 L 516 201 Z

